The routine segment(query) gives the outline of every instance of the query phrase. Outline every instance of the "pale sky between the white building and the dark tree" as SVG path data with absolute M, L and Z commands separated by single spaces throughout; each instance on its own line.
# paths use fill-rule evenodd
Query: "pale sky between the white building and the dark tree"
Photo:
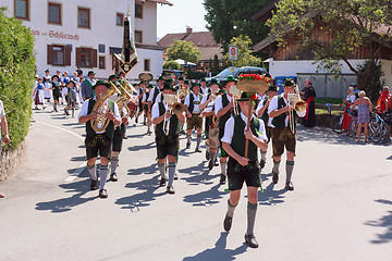
M 158 38 L 167 34 L 185 33 L 186 26 L 193 32 L 206 32 L 204 0 L 168 0 L 172 7 L 158 4 Z

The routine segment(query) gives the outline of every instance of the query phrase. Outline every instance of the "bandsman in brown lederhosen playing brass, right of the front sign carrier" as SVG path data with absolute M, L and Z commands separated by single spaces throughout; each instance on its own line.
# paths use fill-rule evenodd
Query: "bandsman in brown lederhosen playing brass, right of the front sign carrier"
M 273 169 L 272 169 L 272 182 L 274 184 L 279 181 L 279 165 L 281 157 L 286 149 L 286 181 L 285 188 L 287 190 L 294 190 L 294 185 L 291 182 L 294 170 L 294 157 L 296 146 L 296 119 L 297 116 L 304 117 L 306 110 L 302 112 L 294 111 L 294 108 L 287 101 L 287 95 L 292 94 L 295 84 L 291 78 L 284 80 L 283 94 L 273 97 L 268 108 L 268 114 L 272 119 L 272 149 L 273 149 Z M 290 117 L 290 112 L 293 112 L 293 119 Z M 293 126 L 292 130 L 290 126 Z

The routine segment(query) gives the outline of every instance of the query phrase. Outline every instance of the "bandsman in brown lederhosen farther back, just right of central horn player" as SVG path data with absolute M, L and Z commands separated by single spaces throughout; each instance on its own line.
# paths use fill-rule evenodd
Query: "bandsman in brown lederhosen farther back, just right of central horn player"
M 201 110 L 199 108 L 203 100 L 203 94 L 200 94 L 200 84 L 194 83 L 192 84 L 192 91 L 185 98 L 185 107 L 186 107 L 186 149 L 191 148 L 191 135 L 192 130 L 196 128 L 197 140 L 195 152 L 201 152 L 200 142 L 201 142 L 201 126 L 203 126 L 203 117 L 200 117 Z

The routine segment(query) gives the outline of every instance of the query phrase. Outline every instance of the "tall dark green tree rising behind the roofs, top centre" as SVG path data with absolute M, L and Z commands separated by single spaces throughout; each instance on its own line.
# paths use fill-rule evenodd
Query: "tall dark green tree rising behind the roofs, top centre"
M 230 40 L 240 35 L 247 35 L 253 42 L 259 42 L 268 36 L 269 28 L 249 17 L 272 0 L 205 0 L 207 29 L 213 39 L 228 50 Z

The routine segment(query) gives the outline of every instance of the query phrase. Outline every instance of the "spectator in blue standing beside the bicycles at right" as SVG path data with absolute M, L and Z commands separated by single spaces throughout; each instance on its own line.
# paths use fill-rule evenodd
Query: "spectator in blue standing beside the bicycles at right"
M 370 112 L 371 112 L 371 101 L 369 98 L 366 97 L 366 92 L 364 90 L 358 91 L 359 98 L 351 105 L 351 108 L 355 108 L 358 105 L 358 129 L 357 129 L 357 139 L 356 141 L 359 142 L 362 127 L 364 125 L 365 128 L 365 142 L 367 142 L 367 134 L 369 128 L 370 122 Z

